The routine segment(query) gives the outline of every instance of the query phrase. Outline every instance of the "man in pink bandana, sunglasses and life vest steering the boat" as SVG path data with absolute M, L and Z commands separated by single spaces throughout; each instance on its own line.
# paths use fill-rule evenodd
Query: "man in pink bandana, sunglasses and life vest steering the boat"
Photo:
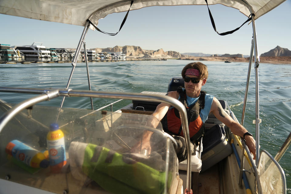
M 233 134 L 243 137 L 249 151 L 256 157 L 256 143 L 253 136 L 239 123 L 235 122 L 229 114 L 222 108 L 218 99 L 213 95 L 206 94 L 201 88 L 205 85 L 208 78 L 207 66 L 201 62 L 187 64 L 182 69 L 182 77 L 184 79 L 184 87 L 178 88 L 177 91 L 168 92 L 167 95 L 178 99 L 185 105 L 189 122 L 189 135 L 191 142 L 195 143 L 204 134 L 204 122 L 207 120 L 210 112 L 223 122 Z M 156 119 L 152 120 L 154 128 L 159 122 L 162 122 L 165 132 L 175 136 L 179 140 L 179 136 L 183 136 L 181 120 L 179 112 L 167 103 L 160 103 L 155 112 L 152 114 Z M 142 145 L 140 150 L 146 149 L 151 152 L 150 138 L 152 132 L 145 132 L 142 136 Z M 179 143 L 179 142 L 178 142 Z M 193 147 L 194 148 L 194 147 Z M 176 149 L 179 158 L 181 150 Z M 185 153 L 183 153 L 185 156 Z M 180 159 L 179 159 L 180 161 Z

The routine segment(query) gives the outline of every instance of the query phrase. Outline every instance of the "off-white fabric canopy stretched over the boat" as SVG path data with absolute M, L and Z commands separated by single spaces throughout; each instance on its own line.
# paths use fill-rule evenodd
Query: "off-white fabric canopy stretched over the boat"
M 239 9 L 244 15 L 255 14 L 255 19 L 271 11 L 285 0 L 208 0 L 209 5 L 222 4 Z M 90 19 L 95 25 L 100 18 L 114 12 L 128 11 L 129 0 L 1 0 L 0 13 L 24 18 L 86 24 Z M 149 6 L 206 5 L 205 0 L 133 0 L 130 10 Z

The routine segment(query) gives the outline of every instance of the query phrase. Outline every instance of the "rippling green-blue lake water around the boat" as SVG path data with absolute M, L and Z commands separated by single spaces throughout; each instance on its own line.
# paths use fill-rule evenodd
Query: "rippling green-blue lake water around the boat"
M 111 92 L 167 92 L 169 79 L 181 77 L 182 68 L 191 61 L 119 61 L 89 62 L 92 90 Z M 224 99 L 230 105 L 238 120 L 241 120 L 243 99 L 246 88 L 248 63 L 224 63 L 203 61 L 208 66 L 209 77 L 204 91 Z M 65 88 L 72 70 L 70 63 L 42 64 L 0 64 L 0 83 L 6 87 Z M 251 70 L 249 96 L 244 126 L 255 134 L 255 70 Z M 291 65 L 259 65 L 260 94 L 260 145 L 275 156 L 291 131 Z M 86 65 L 78 63 L 70 87 L 86 90 L 89 88 Z M 3 93 L 0 99 L 11 103 L 21 102 L 33 95 Z M 114 102 L 114 99 L 93 99 L 94 109 Z M 59 106 L 61 97 L 40 105 Z M 117 103 L 114 110 L 128 104 Z M 90 109 L 88 98 L 66 98 L 64 107 Z M 285 171 L 288 193 L 291 193 L 290 148 L 279 161 Z

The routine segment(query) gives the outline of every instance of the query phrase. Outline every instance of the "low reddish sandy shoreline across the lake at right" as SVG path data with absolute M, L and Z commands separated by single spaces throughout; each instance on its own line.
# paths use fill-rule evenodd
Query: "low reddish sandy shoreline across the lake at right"
M 291 64 L 291 56 L 285 57 L 260 57 L 260 63 L 274 64 Z M 230 62 L 249 62 L 248 58 L 240 57 L 181 57 L 179 60 L 195 60 L 195 61 L 230 61 Z M 253 59 L 254 62 L 254 59 Z

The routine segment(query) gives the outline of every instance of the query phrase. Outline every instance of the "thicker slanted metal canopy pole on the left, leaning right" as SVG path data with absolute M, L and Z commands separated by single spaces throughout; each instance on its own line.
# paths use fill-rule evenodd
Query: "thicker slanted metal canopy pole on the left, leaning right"
M 75 56 L 74 56 L 74 58 L 73 58 L 73 60 L 72 60 L 73 68 L 72 68 L 72 71 L 71 71 L 71 74 L 70 74 L 70 77 L 69 77 L 69 80 L 68 80 L 68 83 L 67 83 L 66 89 L 69 88 L 69 85 L 70 85 L 70 83 L 71 83 L 72 76 L 73 76 L 73 73 L 74 73 L 75 67 L 76 67 L 76 65 L 77 65 L 77 61 L 78 61 L 78 59 L 79 59 L 79 55 L 80 55 L 80 52 L 81 52 L 81 48 L 82 48 L 82 45 L 84 44 L 84 40 L 85 40 L 85 37 L 86 37 L 86 35 L 87 35 L 87 32 L 88 32 L 89 27 L 90 27 L 90 24 L 89 24 L 89 22 L 87 21 L 87 22 L 86 22 L 86 25 L 85 25 L 85 27 L 84 27 L 83 33 L 82 33 L 82 35 L 81 35 L 81 38 L 80 38 L 80 41 L 79 41 L 78 47 L 77 47 L 77 49 L 76 49 Z M 62 102 L 61 102 L 61 105 L 60 105 L 60 109 L 59 109 L 59 113 L 58 113 L 58 115 L 57 115 L 56 121 L 58 121 L 58 119 L 59 119 L 59 115 L 60 115 L 61 109 L 62 109 L 62 107 L 63 107 L 64 101 L 65 101 L 65 96 L 63 96 L 63 98 L 62 98 Z

